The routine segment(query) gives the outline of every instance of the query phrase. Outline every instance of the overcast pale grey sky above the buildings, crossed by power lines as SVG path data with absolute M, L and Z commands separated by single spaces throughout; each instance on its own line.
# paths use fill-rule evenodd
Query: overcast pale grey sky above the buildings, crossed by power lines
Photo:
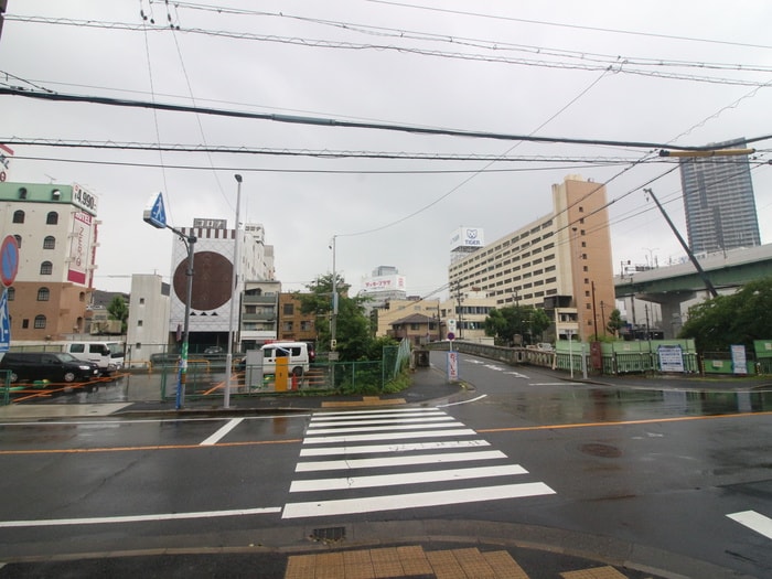
M 242 221 L 265 225 L 286 290 L 332 270 L 334 236 L 354 291 L 388 265 L 409 293 L 430 294 L 447 283 L 454 229 L 481 227 L 493 242 L 548 214 L 551 184 L 568 174 L 607 183 L 615 271 L 623 260 L 666 265 L 684 251 L 642 187 L 686 236 L 678 172 L 656 147 L 624 143 L 772 135 L 770 22 L 765 0 L 9 0 L 2 88 L 620 144 L 13 95 L 0 95 L 0 142 L 15 153 L 9 181 L 99 196 L 97 289 L 129 291 L 132 274 L 169 278 L 173 234 L 142 221 L 159 192 L 175 227 L 233 225 L 235 173 Z M 772 243 L 772 139 L 753 147 Z

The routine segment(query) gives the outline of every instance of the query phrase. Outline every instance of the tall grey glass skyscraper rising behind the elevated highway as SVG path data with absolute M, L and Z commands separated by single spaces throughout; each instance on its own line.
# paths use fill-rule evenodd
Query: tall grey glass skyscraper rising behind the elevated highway
M 746 142 L 715 146 L 743 149 Z M 747 157 L 683 158 L 679 167 L 686 229 L 693 253 L 761 245 Z

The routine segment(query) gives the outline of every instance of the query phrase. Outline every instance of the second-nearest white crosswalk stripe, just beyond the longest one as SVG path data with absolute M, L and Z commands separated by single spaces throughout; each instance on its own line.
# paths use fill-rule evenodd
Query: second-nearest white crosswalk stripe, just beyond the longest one
M 471 479 L 507 476 L 511 474 L 528 474 L 528 471 L 519 464 L 504 464 L 501 467 L 486 467 L 482 469 L 449 469 L 443 471 L 376 474 L 372 476 L 314 479 L 311 481 L 293 481 L 290 485 L 290 493 L 303 493 L 308 491 L 347 491 L 352 489 L 372 489 L 373 486 L 395 486 L 437 481 L 468 481 Z

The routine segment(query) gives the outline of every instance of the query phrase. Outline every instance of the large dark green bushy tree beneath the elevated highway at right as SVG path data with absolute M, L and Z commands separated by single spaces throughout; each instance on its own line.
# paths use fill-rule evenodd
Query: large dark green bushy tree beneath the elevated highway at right
M 698 352 L 723 352 L 732 344 L 753 349 L 772 335 L 772 278 L 747 283 L 689 308 L 679 337 L 693 337 Z

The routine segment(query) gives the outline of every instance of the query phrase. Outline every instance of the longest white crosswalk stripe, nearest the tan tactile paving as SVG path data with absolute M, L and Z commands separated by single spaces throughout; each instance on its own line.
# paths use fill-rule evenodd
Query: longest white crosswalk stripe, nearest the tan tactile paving
M 285 512 L 281 518 L 346 515 L 374 511 L 403 511 L 405 508 L 479 503 L 483 501 L 519 498 L 544 494 L 555 494 L 555 491 L 546 484 L 537 482 L 506 484 L 501 486 L 481 486 L 479 489 L 470 487 L 452 491 L 369 496 L 364 498 L 341 498 L 337 501 L 310 501 L 308 503 L 289 503 L 285 505 Z

